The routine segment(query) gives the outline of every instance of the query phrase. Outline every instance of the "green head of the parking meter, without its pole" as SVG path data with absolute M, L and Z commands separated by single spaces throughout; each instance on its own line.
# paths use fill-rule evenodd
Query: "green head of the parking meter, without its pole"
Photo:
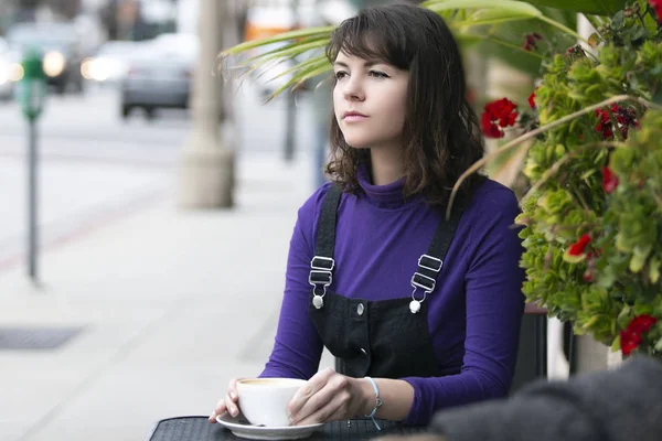
M 38 51 L 31 50 L 25 53 L 21 63 L 23 78 L 19 84 L 19 100 L 23 115 L 33 121 L 42 112 L 46 96 L 46 75 L 42 66 L 42 58 Z

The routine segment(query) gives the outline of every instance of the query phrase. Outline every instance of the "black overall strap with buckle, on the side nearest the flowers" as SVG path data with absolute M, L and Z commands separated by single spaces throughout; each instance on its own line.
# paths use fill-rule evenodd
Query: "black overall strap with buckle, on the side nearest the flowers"
M 462 217 L 462 211 L 457 208 L 452 211 L 450 218 L 447 220 L 442 214 L 435 237 L 427 252 L 418 258 L 418 268 L 412 277 L 412 287 L 414 291 L 420 288 L 425 293 L 430 293 L 437 284 L 437 276 L 444 266 L 444 259 L 448 252 L 450 241 L 455 235 L 456 228 Z

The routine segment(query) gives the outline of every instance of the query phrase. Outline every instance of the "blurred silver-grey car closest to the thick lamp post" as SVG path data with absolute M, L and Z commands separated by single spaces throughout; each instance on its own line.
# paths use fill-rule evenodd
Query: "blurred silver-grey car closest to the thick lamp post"
M 189 34 L 162 34 L 146 43 L 121 82 L 121 116 L 135 108 L 145 109 L 149 119 L 159 108 L 186 109 L 197 51 L 197 37 Z

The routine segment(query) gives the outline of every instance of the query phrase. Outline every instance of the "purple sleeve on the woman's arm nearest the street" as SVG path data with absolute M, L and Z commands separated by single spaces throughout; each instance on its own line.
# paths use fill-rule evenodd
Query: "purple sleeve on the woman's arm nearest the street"
M 323 343 L 308 315 L 311 286 L 312 230 L 316 206 L 325 194 L 322 186 L 299 209 L 290 240 L 285 293 L 274 349 L 260 377 L 309 379 L 317 373 Z

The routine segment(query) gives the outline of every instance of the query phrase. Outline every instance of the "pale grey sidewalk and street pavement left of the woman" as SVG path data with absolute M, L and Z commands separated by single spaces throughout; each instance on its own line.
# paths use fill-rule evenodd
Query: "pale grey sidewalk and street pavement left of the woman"
M 280 160 L 279 103 L 237 103 L 237 206 L 182 212 L 185 115 L 124 125 L 108 90 L 53 99 L 41 125 L 41 287 L 24 277 L 23 123 L 0 107 L 0 332 L 79 330 L 53 349 L 0 349 L 0 440 L 142 440 L 156 420 L 207 413 L 229 377 L 260 370 L 313 172 L 310 154 Z M 299 126 L 299 146 L 310 132 Z

